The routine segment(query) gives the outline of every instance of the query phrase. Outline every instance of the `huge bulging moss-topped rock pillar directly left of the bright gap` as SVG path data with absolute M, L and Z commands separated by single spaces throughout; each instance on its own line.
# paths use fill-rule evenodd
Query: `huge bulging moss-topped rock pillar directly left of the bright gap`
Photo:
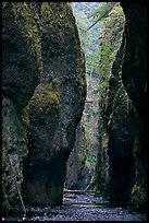
M 42 75 L 29 103 L 26 204 L 62 204 L 66 160 L 86 97 L 85 61 L 67 3 L 42 3 Z

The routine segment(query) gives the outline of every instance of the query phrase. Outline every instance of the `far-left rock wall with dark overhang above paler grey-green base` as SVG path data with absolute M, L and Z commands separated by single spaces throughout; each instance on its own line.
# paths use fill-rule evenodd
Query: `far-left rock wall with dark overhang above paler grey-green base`
M 20 3 L 18 3 L 20 4 Z M 28 11 L 29 8 L 26 8 Z M 20 9 L 22 13 L 22 9 Z M 28 12 L 26 10 L 26 13 Z M 22 207 L 21 186 L 23 160 L 27 155 L 27 116 L 25 105 L 39 83 L 40 70 L 24 35 L 15 3 L 2 5 L 2 209 L 18 211 Z M 34 14 L 34 12 L 33 12 Z M 34 20 L 30 21 L 30 27 Z M 28 30 L 29 31 L 29 30 Z

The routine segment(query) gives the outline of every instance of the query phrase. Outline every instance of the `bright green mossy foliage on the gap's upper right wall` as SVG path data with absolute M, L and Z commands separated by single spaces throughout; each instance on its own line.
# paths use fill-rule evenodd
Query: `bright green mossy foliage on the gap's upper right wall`
M 112 9 L 107 16 L 103 16 L 102 20 L 98 22 L 101 26 L 101 34 L 99 36 L 100 59 L 98 61 L 98 74 L 100 80 L 105 75 L 109 75 L 112 62 L 114 61 L 122 40 L 122 30 L 124 24 L 123 10 L 119 4 L 112 7 L 113 2 L 103 2 L 99 9 L 90 14 L 90 17 L 95 21 L 98 17 L 102 17 L 109 9 Z M 92 59 L 95 56 L 92 56 Z

